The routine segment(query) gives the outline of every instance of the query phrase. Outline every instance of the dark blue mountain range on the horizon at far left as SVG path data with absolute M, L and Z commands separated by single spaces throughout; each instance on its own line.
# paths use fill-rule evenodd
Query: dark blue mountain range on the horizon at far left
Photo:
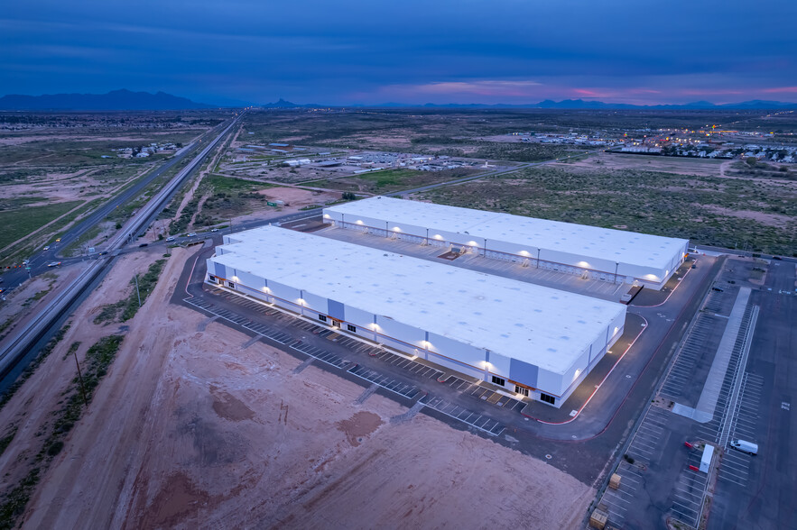
M 107 94 L 11 94 L 0 97 L 0 110 L 187 110 L 216 107 L 165 92 L 150 94 L 125 89 L 112 90 Z

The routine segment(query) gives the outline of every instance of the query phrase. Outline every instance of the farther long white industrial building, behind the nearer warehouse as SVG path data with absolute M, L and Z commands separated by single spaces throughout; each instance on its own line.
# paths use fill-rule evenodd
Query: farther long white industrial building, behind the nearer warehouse
M 655 289 L 689 248 L 685 239 L 384 196 L 324 208 L 324 218 L 342 228 Z

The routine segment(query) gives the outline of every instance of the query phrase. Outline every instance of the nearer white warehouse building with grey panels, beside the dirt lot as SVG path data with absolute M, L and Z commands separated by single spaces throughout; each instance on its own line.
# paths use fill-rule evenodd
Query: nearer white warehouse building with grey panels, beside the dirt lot
M 224 236 L 207 281 L 511 392 L 561 404 L 626 306 L 275 226 Z

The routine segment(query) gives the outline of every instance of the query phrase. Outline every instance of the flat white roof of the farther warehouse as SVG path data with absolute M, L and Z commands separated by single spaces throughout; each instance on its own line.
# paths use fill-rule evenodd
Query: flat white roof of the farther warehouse
M 659 270 L 669 268 L 672 257 L 680 254 L 688 242 L 685 239 L 659 235 L 385 196 L 329 206 L 326 210 L 446 232 L 468 233 L 487 241 L 513 242 L 533 248 L 568 252 L 585 258 L 612 260 Z

